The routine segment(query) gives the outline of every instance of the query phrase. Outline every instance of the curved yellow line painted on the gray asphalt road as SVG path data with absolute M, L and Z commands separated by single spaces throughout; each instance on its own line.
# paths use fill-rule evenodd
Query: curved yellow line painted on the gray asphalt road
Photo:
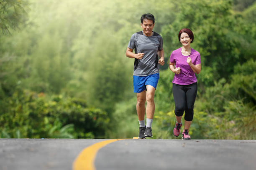
M 73 170 L 96 170 L 94 166 L 94 160 L 98 150 L 109 143 L 113 143 L 118 140 L 124 139 L 112 139 L 104 140 L 99 143 L 88 146 L 77 156 L 73 163 Z

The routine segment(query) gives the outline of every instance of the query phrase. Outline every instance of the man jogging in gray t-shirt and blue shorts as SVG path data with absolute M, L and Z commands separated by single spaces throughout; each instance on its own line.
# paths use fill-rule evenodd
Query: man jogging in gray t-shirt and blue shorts
M 135 59 L 133 89 L 137 93 L 136 110 L 140 125 L 139 139 L 153 137 L 151 123 L 155 111 L 154 94 L 159 80 L 159 64 L 164 65 L 163 39 L 153 31 L 154 25 L 154 15 L 143 14 L 141 16 L 142 31 L 131 36 L 126 50 L 126 56 Z M 133 49 L 135 49 L 135 54 Z M 145 110 L 146 126 L 144 122 Z

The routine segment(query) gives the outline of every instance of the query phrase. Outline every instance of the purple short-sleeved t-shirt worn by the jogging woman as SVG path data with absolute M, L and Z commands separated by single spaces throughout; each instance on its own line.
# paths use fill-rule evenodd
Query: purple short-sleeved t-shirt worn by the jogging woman
M 187 57 L 191 57 L 194 65 L 201 64 L 200 53 L 191 48 L 191 54 L 188 56 L 182 55 L 181 47 L 174 50 L 170 56 L 170 62 L 175 63 L 175 67 L 180 67 L 180 73 L 175 74 L 172 80 L 173 83 L 178 85 L 190 85 L 197 82 L 195 72 L 187 63 Z

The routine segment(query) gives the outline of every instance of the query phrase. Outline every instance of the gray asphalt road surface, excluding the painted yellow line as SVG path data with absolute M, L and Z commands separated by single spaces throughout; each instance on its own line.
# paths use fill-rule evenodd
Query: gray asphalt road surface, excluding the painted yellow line
M 0 139 L 0 170 L 71 170 L 105 139 Z M 256 140 L 119 140 L 97 153 L 97 170 L 256 170 Z

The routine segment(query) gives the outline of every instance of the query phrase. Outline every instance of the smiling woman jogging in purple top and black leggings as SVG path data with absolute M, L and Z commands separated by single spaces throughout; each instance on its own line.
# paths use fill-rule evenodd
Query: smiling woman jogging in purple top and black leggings
M 179 31 L 179 41 L 182 47 L 174 50 L 170 56 L 169 68 L 175 73 L 172 80 L 172 91 L 175 102 L 174 113 L 176 124 L 173 130 L 174 136 L 179 136 L 182 127 L 182 116 L 184 116 L 184 130 L 182 139 L 191 139 L 189 127 L 193 120 L 194 103 L 197 95 L 197 78 L 195 73 L 201 71 L 200 53 L 190 47 L 194 40 L 193 32 L 187 28 Z M 174 67 L 175 65 L 175 67 Z

